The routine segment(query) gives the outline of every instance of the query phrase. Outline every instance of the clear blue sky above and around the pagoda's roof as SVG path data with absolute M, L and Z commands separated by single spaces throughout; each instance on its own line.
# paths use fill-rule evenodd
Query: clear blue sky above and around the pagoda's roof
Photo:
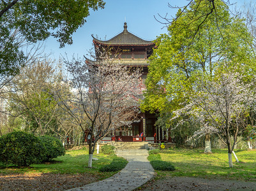
M 230 3 L 243 4 L 249 0 L 230 0 Z M 67 53 L 68 57 L 83 57 L 87 50 L 93 48 L 93 38 L 110 39 L 123 31 L 124 20 L 128 25 L 128 31 L 142 39 L 152 40 L 156 36 L 166 33 L 167 29 L 154 18 L 158 13 L 168 17 L 174 17 L 176 9 L 168 7 L 168 3 L 173 6 L 184 6 L 186 0 L 105 0 L 103 10 L 91 11 L 87 22 L 77 29 L 73 34 L 73 44 L 59 48 L 56 39 L 50 37 L 45 41 L 45 53 L 52 53 L 52 59 L 59 59 L 61 55 Z

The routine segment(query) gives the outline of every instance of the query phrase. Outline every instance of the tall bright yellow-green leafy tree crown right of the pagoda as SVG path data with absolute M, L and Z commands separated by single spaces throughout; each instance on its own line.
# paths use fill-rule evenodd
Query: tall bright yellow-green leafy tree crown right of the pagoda
M 193 1 L 186 11 L 177 11 L 169 33 L 156 39 L 142 110 L 172 115 L 189 103 L 188 92 L 199 79 L 197 71 L 211 78 L 221 60 L 233 60 L 246 71 L 254 68 L 252 36 L 243 20 L 231 17 L 227 6 L 216 0 L 216 14 L 200 17 L 207 12 L 207 3 Z

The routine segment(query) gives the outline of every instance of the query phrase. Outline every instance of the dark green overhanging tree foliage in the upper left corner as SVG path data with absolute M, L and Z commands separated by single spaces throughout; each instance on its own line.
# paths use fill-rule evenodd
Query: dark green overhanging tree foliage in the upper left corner
M 86 22 L 90 10 L 104 8 L 102 0 L 2 0 L 0 2 L 0 74 L 16 74 L 26 55 L 19 36 L 36 43 L 54 36 L 63 47 L 72 44 L 72 34 Z

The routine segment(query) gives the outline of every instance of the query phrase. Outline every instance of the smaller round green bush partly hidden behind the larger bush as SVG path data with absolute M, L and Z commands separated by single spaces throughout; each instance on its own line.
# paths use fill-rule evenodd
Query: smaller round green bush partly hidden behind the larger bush
M 58 156 L 65 155 L 65 149 L 59 139 L 50 136 L 40 136 L 39 139 L 45 146 L 43 162 L 48 162 Z

